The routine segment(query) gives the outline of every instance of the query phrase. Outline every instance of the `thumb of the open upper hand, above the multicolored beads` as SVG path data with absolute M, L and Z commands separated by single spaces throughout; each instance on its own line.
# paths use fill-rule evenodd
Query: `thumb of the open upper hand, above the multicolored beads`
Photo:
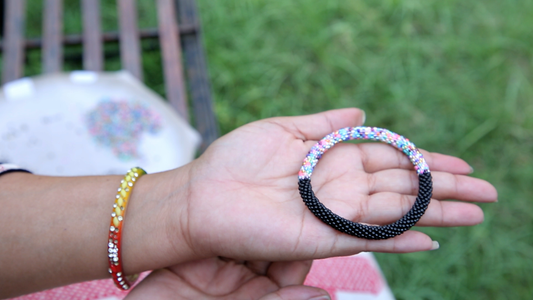
M 330 110 L 318 114 L 270 119 L 302 140 L 319 140 L 344 127 L 361 126 L 365 113 L 357 108 Z

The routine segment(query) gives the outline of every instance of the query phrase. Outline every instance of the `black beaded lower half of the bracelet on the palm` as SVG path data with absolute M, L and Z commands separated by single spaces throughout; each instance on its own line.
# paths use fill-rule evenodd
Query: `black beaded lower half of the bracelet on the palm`
M 433 192 L 431 173 L 425 172 L 418 175 L 418 180 L 418 196 L 416 197 L 413 207 L 411 207 L 409 212 L 407 212 L 407 214 L 398 221 L 384 226 L 364 225 L 352 222 L 335 214 L 324 204 L 322 204 L 315 196 L 313 188 L 311 187 L 310 178 L 300 179 L 298 181 L 298 185 L 300 195 L 302 196 L 305 205 L 307 205 L 309 210 L 324 223 L 337 229 L 338 231 L 359 238 L 368 240 L 383 240 L 395 237 L 409 230 L 426 212 Z

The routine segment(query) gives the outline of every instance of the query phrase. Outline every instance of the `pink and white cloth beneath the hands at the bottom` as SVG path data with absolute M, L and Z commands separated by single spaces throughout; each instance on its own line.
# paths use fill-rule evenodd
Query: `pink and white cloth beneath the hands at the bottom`
M 370 253 L 316 260 L 305 284 L 325 289 L 332 300 L 394 299 L 374 256 Z M 14 299 L 115 300 L 123 299 L 126 295 L 127 292 L 117 289 L 113 281 L 108 279 L 73 284 Z

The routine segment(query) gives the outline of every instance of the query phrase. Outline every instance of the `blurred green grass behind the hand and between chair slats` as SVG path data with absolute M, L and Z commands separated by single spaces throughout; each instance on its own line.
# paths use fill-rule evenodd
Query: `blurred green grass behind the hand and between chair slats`
M 65 31 L 81 31 L 66 0 Z M 117 28 L 103 1 L 103 28 Z M 155 27 L 151 0 L 140 26 Z M 530 299 L 533 292 L 533 1 L 199 0 L 223 133 L 281 115 L 359 107 L 366 124 L 459 156 L 493 183 L 485 222 L 421 230 L 437 251 L 377 254 L 398 299 Z M 30 0 L 27 35 L 40 35 Z M 164 95 L 157 43 L 146 41 L 146 83 Z M 107 70 L 120 69 L 106 47 Z M 79 69 L 80 49 L 66 50 Z M 28 53 L 26 75 L 40 72 Z

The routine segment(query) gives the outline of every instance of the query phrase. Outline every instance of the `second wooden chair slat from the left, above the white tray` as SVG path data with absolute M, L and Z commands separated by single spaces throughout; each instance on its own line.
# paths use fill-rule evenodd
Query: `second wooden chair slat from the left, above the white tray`
M 63 1 L 45 0 L 43 37 L 43 73 L 63 69 Z

